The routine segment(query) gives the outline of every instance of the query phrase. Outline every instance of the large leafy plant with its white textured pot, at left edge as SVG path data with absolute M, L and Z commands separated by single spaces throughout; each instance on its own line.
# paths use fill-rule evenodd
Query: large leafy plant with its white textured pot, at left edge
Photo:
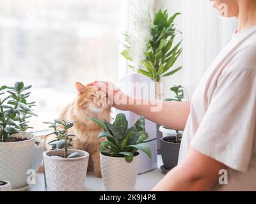
M 23 82 L 0 87 L 0 180 L 8 180 L 13 190 L 28 187 L 26 173 L 36 158 L 36 138 L 26 132 L 27 119 L 36 116 L 35 102 L 28 102 L 30 88 Z

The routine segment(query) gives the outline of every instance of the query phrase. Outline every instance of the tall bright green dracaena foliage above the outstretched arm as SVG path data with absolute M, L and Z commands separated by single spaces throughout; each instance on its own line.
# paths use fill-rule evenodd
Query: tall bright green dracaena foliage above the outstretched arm
M 155 82 L 160 82 L 161 77 L 168 77 L 179 71 L 182 67 L 173 68 L 173 65 L 182 53 L 181 41 L 174 45 L 175 36 L 180 33 L 175 27 L 174 20 L 180 15 L 175 13 L 168 16 L 168 11 L 161 9 L 155 14 L 150 29 L 150 38 L 145 42 L 144 59 L 140 63 L 135 63 L 132 69 L 137 69 Z M 132 58 L 132 48 L 135 47 L 131 40 L 131 35 L 125 33 L 125 50 L 122 55 L 128 61 L 134 62 Z

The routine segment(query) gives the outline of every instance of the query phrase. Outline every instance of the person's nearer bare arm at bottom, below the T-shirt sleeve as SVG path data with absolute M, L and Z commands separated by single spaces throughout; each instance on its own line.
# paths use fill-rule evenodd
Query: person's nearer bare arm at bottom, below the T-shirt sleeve
M 221 169 L 227 166 L 190 147 L 184 161 L 169 171 L 152 191 L 207 191 L 218 182 Z

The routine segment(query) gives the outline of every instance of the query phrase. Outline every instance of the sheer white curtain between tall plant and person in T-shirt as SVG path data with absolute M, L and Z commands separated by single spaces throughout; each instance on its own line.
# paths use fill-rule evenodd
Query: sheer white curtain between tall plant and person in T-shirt
M 236 29 L 234 18 L 220 18 L 207 0 L 183 0 L 184 98 L 190 100 L 212 60 Z

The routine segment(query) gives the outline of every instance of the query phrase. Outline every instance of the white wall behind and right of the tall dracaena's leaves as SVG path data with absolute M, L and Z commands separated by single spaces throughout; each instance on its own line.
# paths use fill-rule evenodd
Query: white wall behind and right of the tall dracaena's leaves
M 180 12 L 182 13 L 182 1 L 180 0 L 156 0 L 156 6 L 155 10 L 158 10 L 159 8 L 163 8 L 163 10 L 168 10 L 169 15 L 173 15 L 174 13 Z M 177 24 L 177 29 L 179 31 L 182 31 L 182 15 L 176 18 L 175 20 Z M 176 42 L 180 41 L 182 39 L 182 35 L 179 34 L 176 37 Z M 183 62 L 183 55 L 180 55 L 177 62 L 174 64 L 173 68 L 177 68 L 179 66 L 182 66 Z M 173 76 L 170 77 L 164 77 L 162 78 L 163 82 L 163 92 L 164 92 L 164 98 L 173 97 L 172 92 L 170 91 L 170 87 L 173 85 L 182 85 L 183 83 L 183 71 L 180 70 L 179 72 L 175 73 Z

